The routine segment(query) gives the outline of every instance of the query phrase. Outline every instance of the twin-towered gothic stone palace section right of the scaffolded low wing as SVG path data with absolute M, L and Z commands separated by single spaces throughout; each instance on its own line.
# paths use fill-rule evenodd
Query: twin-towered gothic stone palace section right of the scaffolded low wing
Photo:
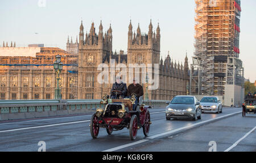
M 127 55 L 123 51 L 119 55 L 112 52 L 112 28 L 111 25 L 107 32 L 103 32 L 100 23 L 98 34 L 94 23 L 90 28 L 89 34 L 84 34 L 84 26 L 81 23 L 79 34 L 79 78 L 78 95 L 79 99 L 101 99 L 103 95 L 109 94 L 112 83 L 99 83 L 97 77 L 100 71 L 97 69 L 100 64 L 111 66 L 110 60 L 114 59 L 115 64 L 158 64 L 159 67 L 159 88 L 148 90 L 149 99 L 170 100 L 175 95 L 187 94 L 186 85 L 189 82 L 188 76 L 188 58 L 185 57 L 184 66 L 175 64 L 171 61 L 170 55 L 160 61 L 160 27 L 153 32 L 152 23 L 148 27 L 148 34 L 142 34 L 140 27 L 137 28 L 137 34 L 133 32 L 133 26 L 130 22 L 128 31 Z M 111 68 L 109 68 L 111 70 Z M 115 70 L 114 74 L 119 73 Z M 154 72 L 153 72 L 154 73 Z M 154 74 L 152 74 L 154 77 Z M 140 74 L 141 77 L 141 74 Z M 109 73 L 110 78 L 110 73 Z M 130 77 L 129 78 L 133 78 Z M 110 79 L 109 79 L 110 81 Z M 127 85 L 129 80 L 126 78 Z M 143 84 L 144 94 L 146 86 Z

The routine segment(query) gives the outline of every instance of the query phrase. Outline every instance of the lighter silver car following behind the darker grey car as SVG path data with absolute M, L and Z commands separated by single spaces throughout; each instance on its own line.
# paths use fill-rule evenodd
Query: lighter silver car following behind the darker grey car
M 200 101 L 202 112 L 222 112 L 222 103 L 218 97 L 203 97 Z

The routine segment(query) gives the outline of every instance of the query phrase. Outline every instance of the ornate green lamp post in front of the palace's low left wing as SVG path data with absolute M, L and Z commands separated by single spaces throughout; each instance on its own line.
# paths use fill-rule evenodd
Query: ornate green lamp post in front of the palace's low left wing
M 55 73 L 56 73 L 55 78 L 57 80 L 57 88 L 55 88 L 55 99 L 61 99 L 59 80 L 60 80 L 61 70 L 63 70 L 63 63 L 60 62 L 61 61 L 60 55 L 55 56 L 55 58 L 56 58 L 56 61 L 53 64 L 53 67 L 54 67 Z

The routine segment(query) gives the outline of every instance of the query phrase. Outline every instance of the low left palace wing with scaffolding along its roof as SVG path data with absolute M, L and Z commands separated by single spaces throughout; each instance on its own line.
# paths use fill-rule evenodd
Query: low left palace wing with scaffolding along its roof
M 0 100 L 53 99 L 56 55 L 61 56 L 60 74 L 63 99 L 77 99 L 78 55 L 59 48 L 41 48 L 31 56 L 0 56 Z

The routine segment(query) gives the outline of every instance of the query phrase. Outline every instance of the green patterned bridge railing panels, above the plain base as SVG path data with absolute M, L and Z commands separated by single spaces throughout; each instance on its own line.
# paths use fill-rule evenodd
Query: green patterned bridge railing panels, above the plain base
M 103 107 L 100 99 L 86 100 L 0 100 L 0 114 L 42 112 L 56 110 L 92 110 Z M 167 106 L 164 100 L 144 100 L 144 104 L 153 108 Z

